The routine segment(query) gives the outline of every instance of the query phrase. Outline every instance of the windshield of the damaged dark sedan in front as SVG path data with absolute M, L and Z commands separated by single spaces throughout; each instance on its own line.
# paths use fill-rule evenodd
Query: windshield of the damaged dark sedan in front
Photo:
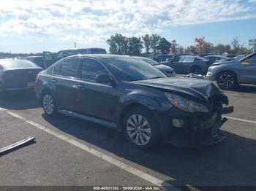
M 135 58 L 105 58 L 105 66 L 118 81 L 136 81 L 166 77 L 151 64 Z

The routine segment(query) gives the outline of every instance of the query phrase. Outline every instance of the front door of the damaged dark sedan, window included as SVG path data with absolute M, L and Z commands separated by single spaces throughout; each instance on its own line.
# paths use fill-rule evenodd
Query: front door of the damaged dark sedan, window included
M 99 61 L 83 58 L 80 64 L 80 81 L 76 99 L 78 112 L 89 117 L 113 121 L 116 117 L 116 88 L 97 83 L 97 74 L 109 74 Z

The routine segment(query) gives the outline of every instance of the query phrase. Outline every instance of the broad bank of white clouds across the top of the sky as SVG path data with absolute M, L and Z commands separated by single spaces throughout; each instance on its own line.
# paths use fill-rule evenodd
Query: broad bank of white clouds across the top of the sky
M 0 35 L 103 42 L 114 33 L 140 36 L 170 26 L 256 18 L 255 1 L 9 0 L 0 7 Z

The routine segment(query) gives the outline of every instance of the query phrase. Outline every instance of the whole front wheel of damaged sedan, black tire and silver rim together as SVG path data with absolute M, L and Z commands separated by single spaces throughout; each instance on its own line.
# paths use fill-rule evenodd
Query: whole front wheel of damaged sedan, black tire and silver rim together
M 127 139 L 139 149 L 152 149 L 158 146 L 158 122 L 150 110 L 143 107 L 129 110 L 124 117 L 123 125 Z

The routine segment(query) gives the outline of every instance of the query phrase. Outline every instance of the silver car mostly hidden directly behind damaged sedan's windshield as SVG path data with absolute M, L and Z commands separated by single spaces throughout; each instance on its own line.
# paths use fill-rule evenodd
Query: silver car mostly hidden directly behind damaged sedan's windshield
M 146 61 L 147 63 L 150 63 L 152 66 L 155 66 L 157 69 L 164 72 L 165 75 L 167 75 L 167 77 L 175 77 L 176 76 L 174 69 L 172 69 L 170 66 L 159 64 L 159 63 L 157 63 L 157 61 L 154 61 L 154 60 L 152 60 L 150 58 L 146 58 L 146 57 L 133 56 L 132 58 L 140 59 L 142 61 Z

